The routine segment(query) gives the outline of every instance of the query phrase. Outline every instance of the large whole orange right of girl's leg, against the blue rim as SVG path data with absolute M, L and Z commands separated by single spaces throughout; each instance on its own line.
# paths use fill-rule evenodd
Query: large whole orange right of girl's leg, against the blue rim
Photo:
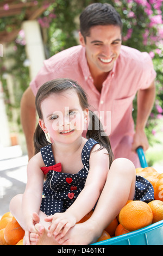
M 119 222 L 129 230 L 134 231 L 152 223 L 153 214 L 149 205 L 141 201 L 132 201 L 120 211 Z

